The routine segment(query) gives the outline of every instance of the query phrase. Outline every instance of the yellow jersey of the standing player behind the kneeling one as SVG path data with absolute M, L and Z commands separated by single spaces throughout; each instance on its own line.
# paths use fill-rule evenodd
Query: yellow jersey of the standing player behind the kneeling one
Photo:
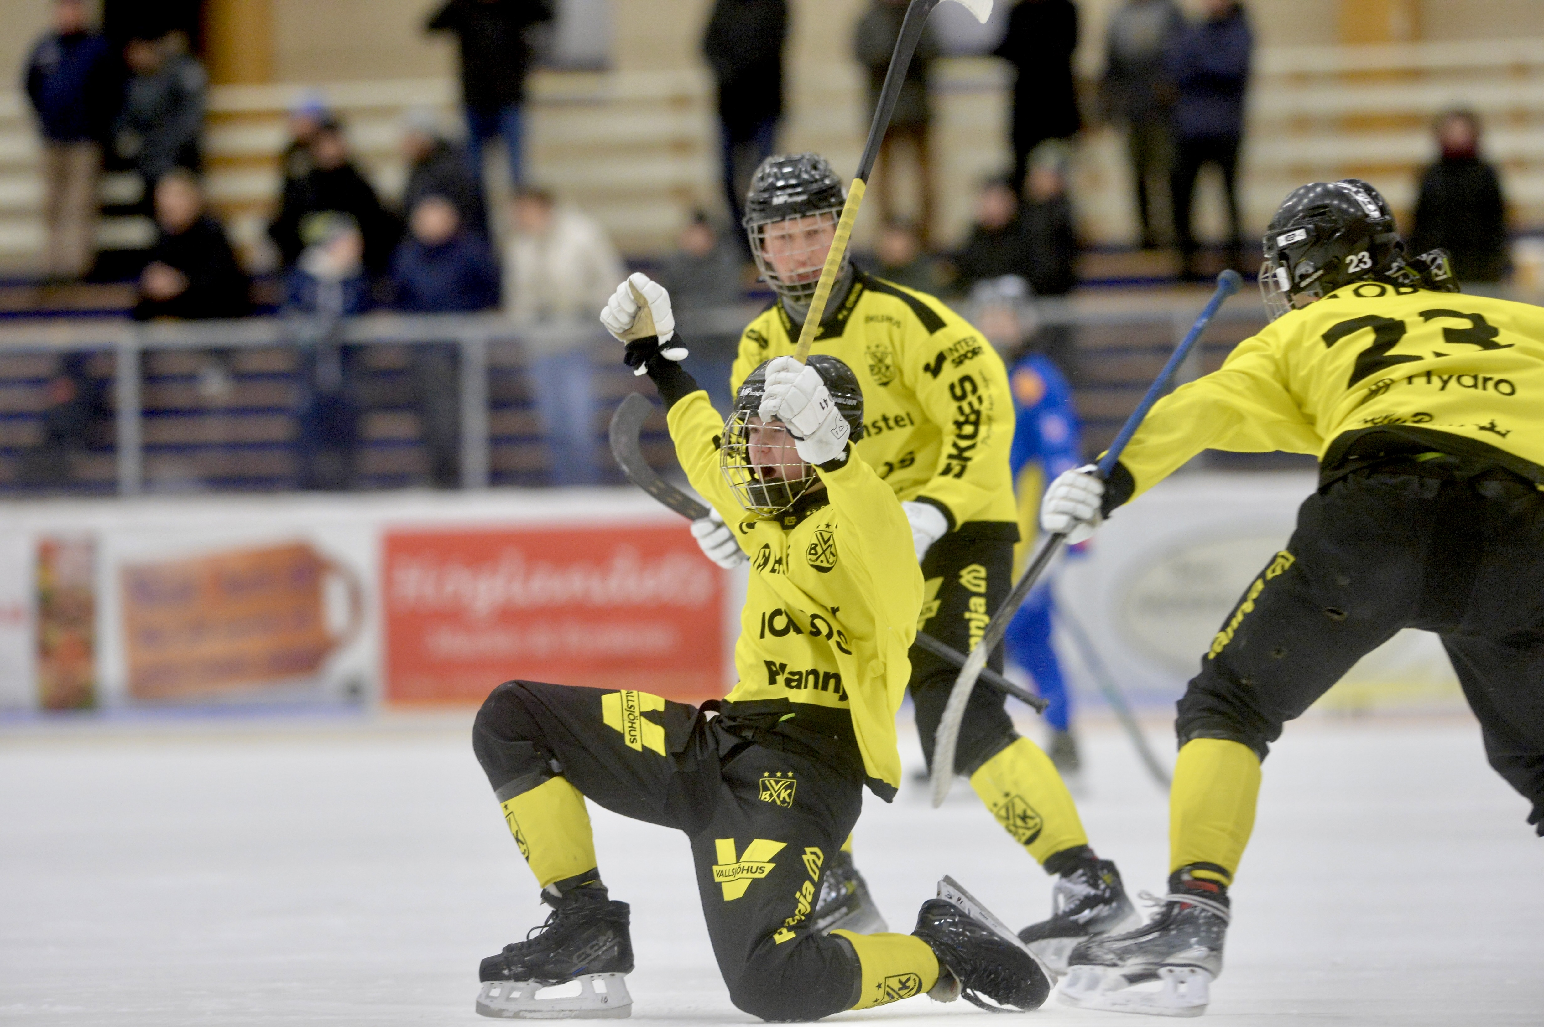
M 777 302 L 741 335 L 730 386 L 738 392 L 761 362 L 797 347 L 798 325 Z M 855 270 L 811 352 L 857 375 L 865 424 L 854 449 L 902 501 L 937 506 L 950 529 L 1017 520 L 1008 372 L 968 321 L 926 293 Z

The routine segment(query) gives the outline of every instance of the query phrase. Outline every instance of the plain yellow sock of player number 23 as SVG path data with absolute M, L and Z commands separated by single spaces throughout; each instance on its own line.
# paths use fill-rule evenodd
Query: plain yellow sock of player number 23
M 1180 749 L 1169 790 L 1169 873 L 1229 885 L 1254 830 L 1260 757 L 1241 742 L 1192 739 Z

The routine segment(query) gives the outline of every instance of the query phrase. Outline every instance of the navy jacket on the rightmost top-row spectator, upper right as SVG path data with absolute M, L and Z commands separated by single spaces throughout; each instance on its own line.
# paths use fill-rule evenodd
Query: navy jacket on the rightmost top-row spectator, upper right
M 1252 49 L 1249 19 L 1237 5 L 1175 37 L 1166 65 L 1177 91 L 1173 126 L 1181 139 L 1243 136 Z

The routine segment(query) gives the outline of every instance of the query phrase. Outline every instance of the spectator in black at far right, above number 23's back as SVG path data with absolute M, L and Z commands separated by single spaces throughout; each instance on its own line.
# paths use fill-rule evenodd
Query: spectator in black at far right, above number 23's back
M 1479 117 L 1448 111 L 1436 122 L 1442 156 L 1420 173 L 1413 253 L 1442 247 L 1461 282 L 1493 284 L 1507 273 L 1507 204 L 1496 168 L 1479 156 Z

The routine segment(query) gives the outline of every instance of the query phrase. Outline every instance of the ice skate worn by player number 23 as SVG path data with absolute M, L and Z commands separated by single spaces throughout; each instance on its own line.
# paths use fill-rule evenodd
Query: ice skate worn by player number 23
M 1118 1013 L 1200 1016 L 1210 982 L 1223 971 L 1227 918 L 1226 899 L 1170 893 L 1144 927 L 1073 948 L 1061 999 Z

